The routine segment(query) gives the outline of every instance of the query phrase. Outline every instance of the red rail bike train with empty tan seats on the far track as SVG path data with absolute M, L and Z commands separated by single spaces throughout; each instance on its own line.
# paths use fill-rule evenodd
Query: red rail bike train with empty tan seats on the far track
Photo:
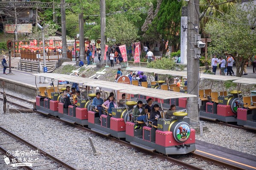
M 186 72 L 182 71 L 167 71 L 160 69 L 145 69 L 145 68 L 128 68 L 131 71 L 144 71 L 154 74 L 166 74 L 173 77 L 186 77 Z M 198 101 L 200 108 L 200 118 L 219 120 L 222 122 L 237 122 L 237 125 L 242 125 L 244 127 L 256 130 L 256 96 L 242 96 L 239 90 L 241 85 L 256 85 L 256 79 L 253 78 L 242 78 L 242 77 L 227 77 L 220 75 L 211 74 L 201 74 L 200 78 L 209 79 L 213 81 L 218 81 L 223 87 L 223 82 L 233 81 L 238 84 L 238 89 L 230 91 L 224 91 L 223 88 L 219 91 L 212 91 L 212 87 L 209 89 L 199 89 L 198 91 Z M 186 86 L 176 87 L 175 84 L 166 85 L 165 81 L 151 81 L 148 88 L 160 88 L 162 90 L 173 90 L 180 91 L 182 93 L 187 92 Z M 147 83 L 146 83 L 147 84 Z M 182 83 L 181 83 L 182 84 Z M 146 87 L 146 85 L 145 85 Z M 169 101 L 163 101 L 163 105 L 176 105 L 181 108 L 186 108 L 184 105 L 186 99 L 172 99 Z

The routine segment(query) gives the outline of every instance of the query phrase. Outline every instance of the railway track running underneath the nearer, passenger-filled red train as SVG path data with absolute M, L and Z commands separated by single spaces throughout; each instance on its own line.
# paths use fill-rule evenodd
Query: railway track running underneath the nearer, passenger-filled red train
M 6 94 L 8 96 L 12 96 L 12 95 L 9 95 L 9 94 Z M 15 97 L 16 99 L 19 99 L 18 97 Z M 25 101 L 26 99 L 21 99 L 23 101 Z M 9 102 L 9 101 L 8 101 Z M 32 102 L 32 101 L 28 101 L 26 100 L 26 102 Z M 13 105 L 17 105 L 17 103 L 15 102 L 12 102 Z M 28 109 L 27 107 L 23 106 L 23 105 L 17 105 L 18 107 L 21 107 L 21 108 L 26 108 Z M 36 113 L 40 113 L 40 114 L 44 114 L 44 113 L 41 113 L 39 111 L 34 111 Z M 45 114 L 44 114 L 45 115 Z M 58 118 L 55 118 L 54 116 L 48 116 L 50 119 L 54 119 L 54 120 L 58 120 L 60 122 L 63 122 L 65 124 L 69 124 L 61 119 L 58 119 Z M 73 127 L 76 127 L 78 129 L 81 129 L 81 130 L 84 130 L 84 131 L 87 131 L 89 133 L 94 133 L 94 134 L 97 134 L 99 135 L 98 133 L 95 133 L 93 131 L 91 131 L 89 128 L 86 128 L 86 127 L 82 127 L 80 125 L 74 125 L 74 124 L 69 124 L 70 126 L 73 126 Z M 162 154 L 159 154 L 159 153 L 156 153 L 156 152 L 150 152 L 148 150 L 143 150 L 139 147 L 134 147 L 133 145 L 131 145 L 129 142 L 125 142 L 125 141 L 122 141 L 120 139 L 114 139 L 113 137 L 111 136 L 104 136 L 104 135 L 99 135 L 99 136 L 102 136 L 102 137 L 105 137 L 106 139 L 108 140 L 111 140 L 113 142 L 117 142 L 119 144 L 122 144 L 122 145 L 125 145 L 127 147 L 133 147 L 133 148 L 136 148 L 137 150 L 141 150 L 143 151 L 143 153 L 145 154 L 148 154 L 148 155 L 151 155 L 151 156 L 154 156 L 154 157 L 157 157 L 159 159 L 163 159 L 163 160 L 167 160 L 167 161 L 170 161 L 171 164 L 169 165 L 169 167 L 172 167 L 174 165 L 178 165 L 180 166 L 182 169 L 190 169 L 190 170 L 203 170 L 204 167 L 208 167 L 208 166 L 212 166 L 213 164 L 217 166 L 217 169 L 220 168 L 228 168 L 228 169 L 232 169 L 232 170 L 236 170 L 236 169 L 239 169 L 241 170 L 241 167 L 237 167 L 235 165 L 232 165 L 232 164 L 227 164 L 225 162 L 222 162 L 222 161 L 218 161 L 218 160 L 215 160 L 215 159 L 211 159 L 207 156 L 203 156 L 203 155 L 200 155 L 198 153 L 189 153 L 188 155 L 186 156 L 177 156 L 179 157 L 178 159 L 175 158 L 175 156 L 168 156 L 168 155 L 162 155 Z M 46 153 L 47 154 L 47 153 Z M 193 160 L 189 160 L 187 162 L 186 161 L 186 157 L 190 157 L 190 158 L 194 158 Z M 54 158 L 52 158 L 54 159 Z M 196 165 L 193 165 L 193 164 L 196 164 Z M 200 165 L 198 165 L 200 164 Z

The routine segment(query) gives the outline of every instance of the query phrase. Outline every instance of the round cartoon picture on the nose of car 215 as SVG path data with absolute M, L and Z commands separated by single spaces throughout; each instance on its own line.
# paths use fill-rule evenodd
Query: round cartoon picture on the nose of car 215
M 186 122 L 180 122 L 174 130 L 174 138 L 177 142 L 185 142 L 190 136 L 190 127 Z

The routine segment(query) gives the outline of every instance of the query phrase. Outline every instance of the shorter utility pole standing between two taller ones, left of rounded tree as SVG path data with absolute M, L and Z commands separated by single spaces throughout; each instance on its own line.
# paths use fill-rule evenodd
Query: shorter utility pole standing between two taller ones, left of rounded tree
M 84 61 L 84 13 L 83 9 L 81 9 L 81 13 L 79 14 L 79 54 L 80 59 Z

